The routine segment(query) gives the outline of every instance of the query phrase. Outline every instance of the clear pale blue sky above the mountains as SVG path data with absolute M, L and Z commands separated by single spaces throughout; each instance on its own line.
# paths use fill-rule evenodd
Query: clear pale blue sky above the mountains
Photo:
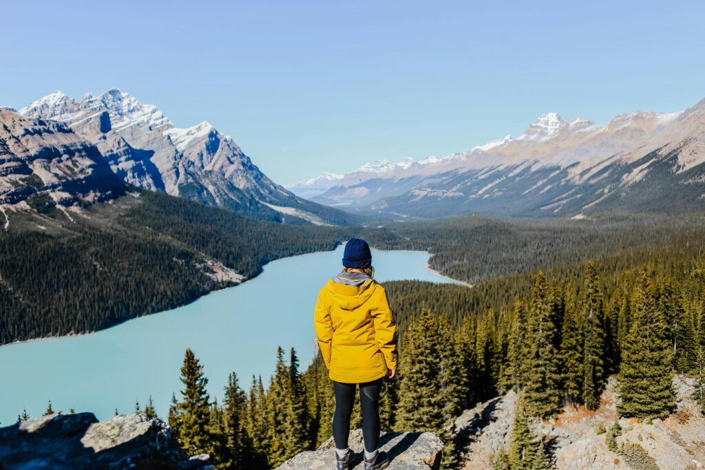
M 0 104 L 110 87 L 277 183 L 705 98 L 703 1 L 0 2 Z

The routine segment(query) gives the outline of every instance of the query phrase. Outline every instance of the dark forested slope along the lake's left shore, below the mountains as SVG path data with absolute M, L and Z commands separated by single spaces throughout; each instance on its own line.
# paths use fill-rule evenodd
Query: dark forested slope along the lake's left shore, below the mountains
M 178 307 L 234 285 L 235 273 L 250 278 L 268 261 L 333 249 L 349 234 L 147 191 L 70 216 L 51 207 L 13 216 L 11 230 L 0 233 L 0 344 Z

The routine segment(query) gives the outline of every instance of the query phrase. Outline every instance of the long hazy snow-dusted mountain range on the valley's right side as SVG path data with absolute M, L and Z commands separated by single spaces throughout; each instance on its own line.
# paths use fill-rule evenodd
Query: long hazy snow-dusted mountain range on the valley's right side
M 699 209 L 705 206 L 704 163 L 705 100 L 675 113 L 616 116 L 606 125 L 546 113 L 515 139 L 508 135 L 441 158 L 366 164 L 309 197 L 393 216 Z

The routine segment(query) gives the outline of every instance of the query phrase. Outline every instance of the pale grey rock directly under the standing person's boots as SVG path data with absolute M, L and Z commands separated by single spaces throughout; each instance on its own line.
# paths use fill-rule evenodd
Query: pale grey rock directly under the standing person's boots
M 354 469 L 364 468 L 362 463 L 364 443 L 362 431 L 355 429 L 348 438 L 350 449 L 355 452 Z M 335 466 L 336 451 L 333 438 L 326 440 L 318 450 L 301 452 L 276 470 L 318 470 Z M 434 433 L 381 433 L 379 450 L 391 459 L 389 470 L 437 470 L 441 466 L 443 442 Z

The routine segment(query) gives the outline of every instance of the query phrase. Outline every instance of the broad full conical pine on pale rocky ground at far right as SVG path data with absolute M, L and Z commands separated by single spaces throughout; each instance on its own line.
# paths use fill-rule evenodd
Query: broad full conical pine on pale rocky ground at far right
M 617 404 L 620 416 L 665 418 L 673 410 L 670 346 L 666 316 L 656 308 L 649 272 L 644 268 L 632 296 L 630 331 L 622 348 Z

